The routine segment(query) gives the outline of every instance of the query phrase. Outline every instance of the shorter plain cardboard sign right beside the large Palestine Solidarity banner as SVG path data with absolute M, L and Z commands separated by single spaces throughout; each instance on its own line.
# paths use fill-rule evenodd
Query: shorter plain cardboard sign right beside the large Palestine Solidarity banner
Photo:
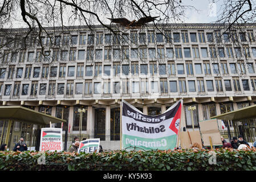
M 191 148 L 194 143 L 200 144 L 202 149 L 202 140 L 200 131 L 182 131 L 180 133 L 181 148 Z

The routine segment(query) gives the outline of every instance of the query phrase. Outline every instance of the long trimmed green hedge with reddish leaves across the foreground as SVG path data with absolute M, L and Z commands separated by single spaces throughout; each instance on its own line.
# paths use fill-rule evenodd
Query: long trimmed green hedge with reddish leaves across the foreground
M 209 150 L 112 151 L 99 154 L 70 152 L 0 152 L 0 170 L 256 170 L 256 150 L 217 149 L 217 164 Z M 37 159 L 46 156 L 46 164 Z

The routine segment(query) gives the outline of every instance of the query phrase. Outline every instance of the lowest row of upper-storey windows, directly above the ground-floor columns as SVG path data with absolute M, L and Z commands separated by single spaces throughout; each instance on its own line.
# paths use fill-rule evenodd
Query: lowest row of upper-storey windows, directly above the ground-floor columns
M 149 85 L 149 82 L 151 85 Z M 30 96 L 36 96 L 39 92 L 39 95 L 46 95 L 48 89 L 48 96 L 55 95 L 55 85 L 56 86 L 56 94 L 62 95 L 65 93 L 66 95 L 73 95 L 75 94 L 110 94 L 110 93 L 161 93 L 161 94 L 168 94 L 180 92 L 224 92 L 224 88 L 226 92 L 229 91 L 236 91 L 241 92 L 241 89 L 244 91 L 249 91 L 250 84 L 253 91 L 256 91 L 256 77 L 251 77 L 251 79 L 239 79 L 238 77 L 233 77 L 232 80 L 226 79 L 222 80 L 221 78 L 215 78 L 215 80 L 204 80 L 204 78 L 197 78 L 197 80 L 186 80 L 185 78 L 179 78 L 177 80 L 167 80 L 166 78 L 160 78 L 160 81 L 148 81 L 147 78 L 141 78 L 140 81 L 129 81 L 128 79 L 123 79 L 122 81 L 113 81 L 111 80 L 104 80 L 103 82 L 92 82 L 92 80 L 85 80 L 85 82 L 75 82 L 74 80 L 68 80 L 67 83 L 56 83 L 55 81 L 50 81 L 47 83 L 38 84 L 38 81 L 32 81 L 31 84 L 21 82 L 14 82 L 12 84 L 5 84 L 5 92 L 4 96 L 11 95 L 11 88 L 14 86 L 13 89 L 13 96 L 27 96 L 29 95 L 29 88 L 30 88 Z M 241 84 L 240 84 L 241 83 Z M 111 91 L 111 84 L 112 84 L 112 91 Z M 130 84 L 132 84 L 130 86 Z M 206 84 L 206 85 L 205 85 Z M 39 88 L 38 88 L 39 85 Z M 48 85 L 48 88 L 47 88 Z M 66 85 L 66 86 L 65 86 Z M 242 87 L 241 87 L 242 85 Z M 2 94 L 3 84 L 0 85 L 0 92 Z M 103 92 L 102 90 L 103 86 Z M 149 90 L 149 86 L 151 90 Z M 215 87 L 215 88 L 214 88 Z M 84 88 L 84 89 L 83 89 Z M 122 88 L 122 90 L 121 90 Z M 21 93 L 20 93 L 21 91 Z M 132 92 L 131 92 L 132 91 Z

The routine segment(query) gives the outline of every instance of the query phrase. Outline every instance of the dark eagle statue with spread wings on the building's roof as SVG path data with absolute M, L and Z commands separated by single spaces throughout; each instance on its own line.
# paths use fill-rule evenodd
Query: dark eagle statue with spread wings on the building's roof
M 121 26 L 124 26 L 126 28 L 140 28 L 143 26 L 145 23 L 153 22 L 156 18 L 159 16 L 147 16 L 140 18 L 139 20 L 128 20 L 126 18 L 108 18 L 111 20 L 113 23 L 119 23 Z

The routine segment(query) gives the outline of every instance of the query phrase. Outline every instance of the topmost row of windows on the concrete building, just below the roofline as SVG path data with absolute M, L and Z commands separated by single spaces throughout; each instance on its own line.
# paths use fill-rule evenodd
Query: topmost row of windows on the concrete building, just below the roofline
M 246 36 L 247 34 L 247 36 Z M 221 34 L 220 31 L 214 32 L 206 32 L 206 38 L 209 43 L 212 43 L 214 39 L 216 42 L 222 42 L 224 40 L 225 43 L 237 42 L 241 40 L 241 42 L 255 42 L 255 36 L 253 30 L 247 30 L 246 32 L 239 32 L 239 36 L 237 36 L 237 32 L 225 32 Z M 239 37 L 239 39 L 238 39 Z M 161 32 L 148 31 L 146 33 L 139 33 L 137 31 L 131 31 L 130 34 L 122 34 L 122 35 L 112 35 L 112 34 L 104 34 L 103 32 L 97 32 L 95 34 L 87 34 L 86 32 L 81 32 L 79 35 L 70 35 L 64 34 L 63 36 L 48 36 L 42 37 L 43 46 L 76 46 L 79 45 L 90 45 L 94 46 L 100 44 L 129 44 L 129 40 L 131 43 L 206 43 L 205 31 L 198 30 L 197 32 L 189 32 L 181 31 L 181 32 L 171 32 L 165 30 L 162 34 Z M 13 41 L 14 40 L 14 41 Z M 3 43 L 14 42 L 9 46 L 18 46 L 18 42 L 15 42 L 15 38 L 7 37 L 5 40 L 3 37 L 0 37 L 0 45 Z M 22 43 L 20 43 L 22 44 Z M 31 36 L 28 41 L 28 46 L 34 47 L 35 45 L 40 46 L 40 43 L 36 37 Z

